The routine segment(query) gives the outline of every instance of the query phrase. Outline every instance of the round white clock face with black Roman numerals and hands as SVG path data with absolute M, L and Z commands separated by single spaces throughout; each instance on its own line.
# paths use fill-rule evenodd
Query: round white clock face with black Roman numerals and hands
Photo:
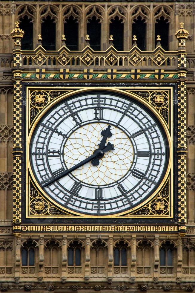
M 156 117 L 136 100 L 86 94 L 62 100 L 39 120 L 30 165 L 36 184 L 60 206 L 112 215 L 159 186 L 169 156 L 165 140 Z

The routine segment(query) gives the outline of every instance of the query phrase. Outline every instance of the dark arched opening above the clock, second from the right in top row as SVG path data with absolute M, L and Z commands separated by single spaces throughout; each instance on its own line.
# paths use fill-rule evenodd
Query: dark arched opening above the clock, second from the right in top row
M 141 51 L 146 50 L 146 23 L 145 19 L 138 16 L 137 19 L 133 19 L 132 35 L 137 37 L 137 46 Z

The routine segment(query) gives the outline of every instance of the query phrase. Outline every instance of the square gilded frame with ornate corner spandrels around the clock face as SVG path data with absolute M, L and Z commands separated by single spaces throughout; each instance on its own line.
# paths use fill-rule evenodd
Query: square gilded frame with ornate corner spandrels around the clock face
M 60 94 L 58 97 L 51 97 L 52 91 L 62 91 L 64 93 Z M 165 176 L 155 190 L 155 192 L 145 199 L 142 203 L 138 204 L 136 207 L 130 208 L 129 211 L 122 213 L 117 213 L 110 216 L 98 216 L 99 218 L 173 218 L 173 88 L 170 86 L 143 86 L 143 87 L 105 87 L 99 88 L 95 86 L 91 87 L 73 87 L 73 86 L 27 86 L 26 87 L 26 218 L 97 218 L 97 216 L 89 216 L 81 213 L 76 213 L 67 208 L 59 205 L 53 199 L 47 199 L 46 193 L 39 187 L 36 182 L 36 178 L 33 175 L 32 169 L 30 167 L 29 159 L 29 144 L 33 131 L 41 119 L 41 117 L 51 109 L 60 100 L 70 97 L 75 94 L 83 94 L 87 91 L 109 91 L 113 94 L 124 94 L 127 97 L 133 97 L 135 100 L 139 101 L 147 107 L 155 117 L 157 117 L 159 123 L 161 123 L 162 128 L 168 138 L 168 144 L 170 149 L 170 156 L 167 171 Z M 35 92 L 42 91 L 44 94 L 44 100 L 39 100 L 36 103 Z M 148 93 L 146 97 L 140 96 L 143 92 Z M 165 99 L 164 103 L 154 103 L 155 92 L 161 92 Z M 32 109 L 37 109 L 38 112 L 33 121 L 30 122 L 30 116 L 32 116 Z M 163 109 L 163 111 L 162 111 Z M 34 111 L 34 110 L 33 110 Z M 168 119 L 165 119 L 163 113 L 168 115 Z M 168 121 L 168 122 L 167 122 Z M 154 207 L 157 207 L 155 210 Z

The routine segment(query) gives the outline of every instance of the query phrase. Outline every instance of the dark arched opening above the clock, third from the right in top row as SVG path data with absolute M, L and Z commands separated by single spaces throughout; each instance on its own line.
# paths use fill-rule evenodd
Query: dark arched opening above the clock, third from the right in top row
M 113 35 L 113 45 L 118 51 L 123 50 L 123 30 L 122 19 L 119 20 L 119 17 L 115 16 L 110 23 L 110 35 Z

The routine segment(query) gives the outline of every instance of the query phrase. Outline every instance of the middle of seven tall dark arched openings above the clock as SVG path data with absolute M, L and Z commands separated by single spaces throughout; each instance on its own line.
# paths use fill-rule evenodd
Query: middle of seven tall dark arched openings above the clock
M 101 23 L 100 19 L 96 19 L 96 16 L 93 16 L 88 20 L 87 23 L 87 34 L 90 38 L 90 47 L 94 51 L 101 50 Z

